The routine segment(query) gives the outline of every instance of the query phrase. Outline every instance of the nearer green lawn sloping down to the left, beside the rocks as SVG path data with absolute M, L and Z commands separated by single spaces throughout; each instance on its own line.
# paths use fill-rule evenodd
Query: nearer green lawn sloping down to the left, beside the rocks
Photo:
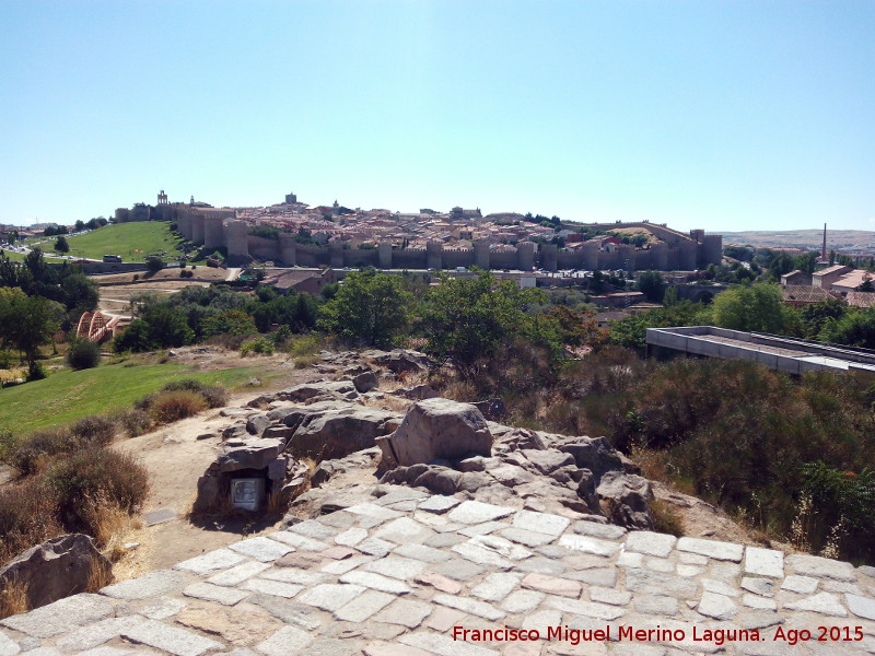
M 264 367 L 259 365 L 198 372 L 174 363 L 126 364 L 79 372 L 65 370 L 43 380 L 1 389 L 0 431 L 21 435 L 36 429 L 63 425 L 89 414 L 129 409 L 137 399 L 178 378 L 197 378 L 225 387 L 243 385 L 254 376 L 265 378 Z

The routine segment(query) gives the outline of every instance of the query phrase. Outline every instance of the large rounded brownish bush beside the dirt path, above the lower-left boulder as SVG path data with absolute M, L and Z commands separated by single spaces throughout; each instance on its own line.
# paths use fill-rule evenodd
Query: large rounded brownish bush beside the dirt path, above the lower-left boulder
M 98 448 L 77 452 L 46 471 L 67 530 L 97 535 L 95 504 L 133 511 L 149 493 L 149 472 L 132 456 Z

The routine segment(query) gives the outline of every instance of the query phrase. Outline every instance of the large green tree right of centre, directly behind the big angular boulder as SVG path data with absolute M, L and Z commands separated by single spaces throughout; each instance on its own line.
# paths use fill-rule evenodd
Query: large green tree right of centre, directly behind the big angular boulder
M 541 292 L 520 290 L 513 281 L 500 282 L 488 271 L 477 278 L 442 277 L 424 298 L 421 318 L 427 351 L 471 377 L 478 361 L 493 356 L 508 338 L 530 336 L 537 329 L 526 313 L 542 301 Z

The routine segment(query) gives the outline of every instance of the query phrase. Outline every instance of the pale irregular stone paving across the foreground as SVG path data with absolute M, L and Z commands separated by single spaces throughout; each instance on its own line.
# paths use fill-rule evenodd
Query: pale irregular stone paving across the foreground
M 381 491 L 7 618 L 0 656 L 875 654 L 873 567 Z

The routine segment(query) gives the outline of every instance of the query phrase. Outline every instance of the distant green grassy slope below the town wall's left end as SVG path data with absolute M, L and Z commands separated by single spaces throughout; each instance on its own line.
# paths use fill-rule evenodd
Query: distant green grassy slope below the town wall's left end
M 68 237 L 73 257 L 101 259 L 104 255 L 120 255 L 126 262 L 142 262 L 150 255 L 158 255 L 165 261 L 175 260 L 182 255 L 176 245 L 182 239 L 171 232 L 166 221 L 142 221 L 104 225 L 78 237 Z M 51 244 L 43 244 L 50 251 Z

